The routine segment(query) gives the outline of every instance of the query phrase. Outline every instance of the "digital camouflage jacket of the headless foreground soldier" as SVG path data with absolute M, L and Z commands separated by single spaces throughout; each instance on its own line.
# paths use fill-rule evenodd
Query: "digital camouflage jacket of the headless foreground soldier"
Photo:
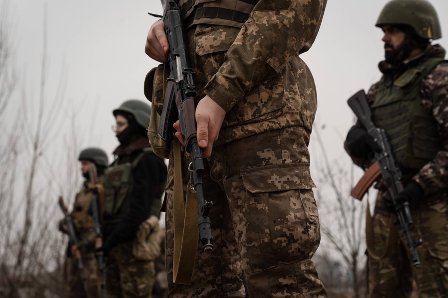
M 316 37 L 325 3 L 260 0 L 242 28 L 187 30 L 198 99 L 207 94 L 227 112 L 216 144 L 287 126 L 311 131 L 315 83 L 299 51 Z M 152 98 L 157 110 L 163 104 L 159 70 Z

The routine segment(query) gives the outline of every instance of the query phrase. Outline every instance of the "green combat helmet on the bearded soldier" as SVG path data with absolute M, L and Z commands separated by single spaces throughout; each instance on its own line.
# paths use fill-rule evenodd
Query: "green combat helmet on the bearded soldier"
M 392 0 L 383 8 L 375 26 L 408 25 L 425 39 L 442 37 L 439 17 L 433 5 L 426 0 Z

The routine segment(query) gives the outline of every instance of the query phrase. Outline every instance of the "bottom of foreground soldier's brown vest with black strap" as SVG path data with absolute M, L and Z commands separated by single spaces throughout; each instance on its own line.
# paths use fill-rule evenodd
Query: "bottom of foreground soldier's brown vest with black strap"
M 196 24 L 241 28 L 258 0 L 179 0 L 186 27 Z M 236 10 L 238 8 L 238 10 Z

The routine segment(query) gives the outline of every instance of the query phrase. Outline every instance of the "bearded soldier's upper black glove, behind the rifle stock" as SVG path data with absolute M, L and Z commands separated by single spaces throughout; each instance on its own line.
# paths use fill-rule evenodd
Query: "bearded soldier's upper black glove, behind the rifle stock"
M 372 152 L 381 151 L 380 146 L 369 136 L 364 127 L 358 124 L 348 131 L 346 141 L 348 151 L 356 158 L 367 158 Z

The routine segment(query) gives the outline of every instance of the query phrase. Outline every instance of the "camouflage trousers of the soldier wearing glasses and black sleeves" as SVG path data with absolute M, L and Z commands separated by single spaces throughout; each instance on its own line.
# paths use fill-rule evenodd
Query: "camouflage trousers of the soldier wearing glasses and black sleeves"
M 108 298 L 148 298 L 154 286 L 154 262 L 135 259 L 132 241 L 115 246 L 106 263 Z

